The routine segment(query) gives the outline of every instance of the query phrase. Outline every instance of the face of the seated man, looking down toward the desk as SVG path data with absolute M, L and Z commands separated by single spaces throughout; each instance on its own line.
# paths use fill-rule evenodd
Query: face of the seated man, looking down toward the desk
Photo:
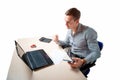
M 73 29 L 76 27 L 78 21 L 74 20 L 72 16 L 66 15 L 65 16 L 65 24 L 68 29 Z

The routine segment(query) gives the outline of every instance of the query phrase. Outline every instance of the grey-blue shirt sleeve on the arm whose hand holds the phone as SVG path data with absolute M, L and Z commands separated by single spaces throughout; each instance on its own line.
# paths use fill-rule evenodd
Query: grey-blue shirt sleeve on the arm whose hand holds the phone
M 92 63 L 101 55 L 97 41 L 97 32 L 90 28 L 86 32 L 86 40 L 90 53 L 85 57 L 85 60 L 87 63 Z

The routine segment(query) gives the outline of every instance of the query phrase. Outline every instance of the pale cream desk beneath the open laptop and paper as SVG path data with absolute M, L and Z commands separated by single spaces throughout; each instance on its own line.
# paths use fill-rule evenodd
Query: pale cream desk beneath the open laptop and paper
M 44 49 L 50 55 L 52 51 L 61 50 L 53 41 L 50 43 L 43 43 L 39 38 L 24 38 L 17 40 L 22 45 L 25 51 Z M 35 44 L 36 48 L 30 46 Z M 61 61 L 37 71 L 31 71 L 29 67 L 18 57 L 16 50 L 13 53 L 11 65 L 8 71 L 7 80 L 87 80 L 79 69 L 72 69 L 70 65 Z

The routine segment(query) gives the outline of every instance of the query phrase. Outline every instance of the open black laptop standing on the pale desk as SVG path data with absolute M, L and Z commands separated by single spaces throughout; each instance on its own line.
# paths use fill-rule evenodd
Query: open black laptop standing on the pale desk
M 53 64 L 53 61 L 43 49 L 24 52 L 17 41 L 15 41 L 15 46 L 18 56 L 28 65 L 31 70 L 36 70 Z

